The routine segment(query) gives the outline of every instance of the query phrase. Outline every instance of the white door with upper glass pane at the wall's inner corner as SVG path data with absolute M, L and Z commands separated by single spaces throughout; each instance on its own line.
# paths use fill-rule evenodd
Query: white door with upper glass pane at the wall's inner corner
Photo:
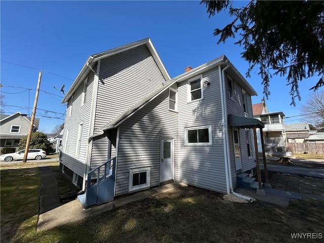
M 173 179 L 173 139 L 161 139 L 160 182 Z

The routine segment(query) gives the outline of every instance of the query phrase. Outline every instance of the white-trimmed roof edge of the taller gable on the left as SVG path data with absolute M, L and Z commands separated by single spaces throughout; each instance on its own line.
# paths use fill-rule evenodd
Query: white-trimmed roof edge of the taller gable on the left
M 69 88 L 69 90 L 67 91 L 66 95 L 64 96 L 62 103 L 66 103 L 69 98 L 72 96 L 73 94 L 73 90 L 75 87 L 77 87 L 85 78 L 86 75 L 88 75 L 88 73 L 90 72 L 90 70 L 96 65 L 96 63 L 103 58 L 109 57 L 109 56 L 113 56 L 116 55 L 118 53 L 121 52 L 125 52 L 127 50 L 142 46 L 142 45 L 146 45 L 148 50 L 150 51 L 154 61 L 156 62 L 158 68 L 160 69 L 162 75 L 164 76 L 164 78 L 166 80 L 170 80 L 171 77 L 167 71 L 167 69 L 165 68 L 164 64 L 162 63 L 160 57 L 158 56 L 150 38 L 145 38 L 142 39 L 141 41 L 137 41 L 137 42 L 133 42 L 121 47 L 117 47 L 117 48 L 113 48 L 101 53 L 97 53 L 94 54 L 92 56 L 90 56 L 88 58 L 88 60 L 86 61 L 85 65 L 83 66 L 83 68 L 80 70 L 80 72 L 77 74 L 76 78 L 74 79 L 74 82 L 72 83 L 71 87 Z

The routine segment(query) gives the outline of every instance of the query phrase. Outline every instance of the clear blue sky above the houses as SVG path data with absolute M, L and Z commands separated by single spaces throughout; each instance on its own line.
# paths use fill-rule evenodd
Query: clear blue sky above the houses
M 39 130 L 45 133 L 64 122 L 63 96 L 53 86 L 60 89 L 64 84 L 67 91 L 90 55 L 139 39 L 151 38 L 171 77 L 187 66 L 194 68 L 223 54 L 244 76 L 248 69 L 240 55 L 242 48 L 233 39 L 217 45 L 218 37 L 213 36 L 213 30 L 224 27 L 231 18 L 225 12 L 208 18 L 199 1 L 1 1 L 0 7 L 1 92 L 6 103 L 2 108 L 7 114 L 28 114 L 30 107 L 31 114 L 38 72 L 43 70 L 36 117 L 41 119 Z M 260 103 L 263 97 L 257 73 L 255 69 L 247 78 L 258 93 L 253 103 Z M 300 83 L 302 101 L 294 107 L 285 77 L 274 76 L 266 100 L 269 111 L 299 115 L 317 79 Z M 285 123 L 296 123 L 299 118 L 285 119 Z

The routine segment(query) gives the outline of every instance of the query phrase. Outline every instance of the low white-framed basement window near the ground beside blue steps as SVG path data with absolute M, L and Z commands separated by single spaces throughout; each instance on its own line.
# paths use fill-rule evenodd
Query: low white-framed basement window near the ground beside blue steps
M 150 187 L 151 167 L 130 169 L 129 191 Z

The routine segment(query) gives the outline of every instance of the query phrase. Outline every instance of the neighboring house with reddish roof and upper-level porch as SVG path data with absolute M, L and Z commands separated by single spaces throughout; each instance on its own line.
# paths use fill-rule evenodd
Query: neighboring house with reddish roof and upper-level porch
M 253 117 L 261 120 L 265 127 L 262 131 L 262 136 L 264 139 L 264 144 L 266 147 L 268 155 L 285 154 L 285 144 L 286 144 L 286 130 L 284 125 L 285 114 L 281 111 L 279 112 L 269 112 L 264 99 L 261 103 L 253 104 Z M 262 151 L 261 147 L 261 134 L 260 130 L 257 130 L 258 138 L 258 151 Z M 273 150 L 273 151 L 272 151 Z

